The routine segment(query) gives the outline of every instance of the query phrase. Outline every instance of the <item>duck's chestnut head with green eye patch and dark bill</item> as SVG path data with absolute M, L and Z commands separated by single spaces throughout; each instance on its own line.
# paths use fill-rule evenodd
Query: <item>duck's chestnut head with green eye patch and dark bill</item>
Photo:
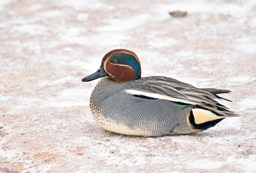
M 141 75 L 140 60 L 138 56 L 126 49 L 115 49 L 108 52 L 101 61 L 100 68 L 82 79 L 89 82 L 94 79 L 108 76 L 108 79 L 116 82 L 128 82 L 139 79 Z

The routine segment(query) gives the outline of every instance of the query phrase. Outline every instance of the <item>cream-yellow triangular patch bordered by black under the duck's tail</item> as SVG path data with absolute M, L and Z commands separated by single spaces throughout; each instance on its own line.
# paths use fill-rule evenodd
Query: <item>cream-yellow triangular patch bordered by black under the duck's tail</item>
M 204 110 L 199 108 L 192 109 L 192 112 L 193 112 L 196 124 L 202 124 L 207 121 L 226 118 L 225 116 L 217 116 L 216 114 L 212 113 L 209 110 Z

